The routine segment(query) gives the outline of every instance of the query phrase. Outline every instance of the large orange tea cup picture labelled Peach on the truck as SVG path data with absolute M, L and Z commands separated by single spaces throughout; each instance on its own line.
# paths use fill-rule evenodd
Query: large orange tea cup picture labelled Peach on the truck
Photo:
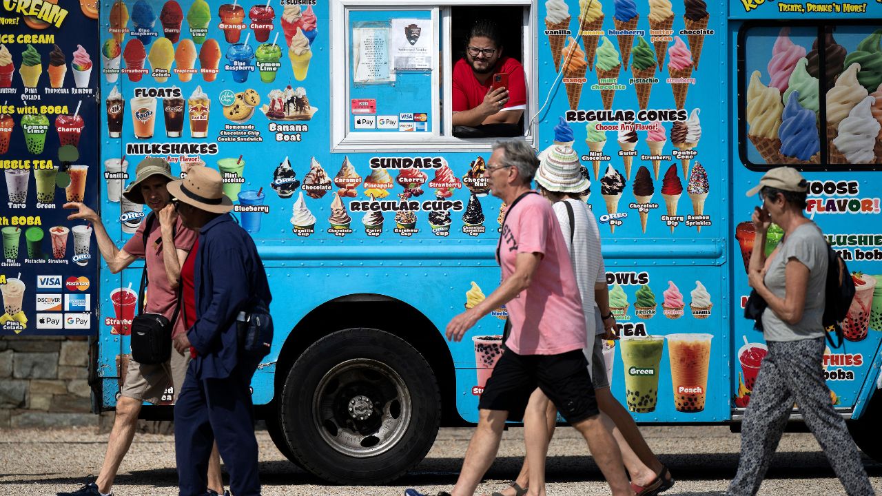
M 705 410 L 707 367 L 711 357 L 711 334 L 668 334 L 670 377 L 676 411 Z

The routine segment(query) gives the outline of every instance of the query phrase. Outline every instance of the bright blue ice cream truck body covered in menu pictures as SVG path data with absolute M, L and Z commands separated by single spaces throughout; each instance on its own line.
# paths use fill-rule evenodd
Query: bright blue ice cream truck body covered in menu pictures
M 841 108 L 824 121 L 807 118 L 804 110 L 823 107 L 816 92 L 818 109 L 811 109 L 811 92 L 805 91 L 812 67 L 816 73 L 820 67 L 811 64 L 811 41 L 796 27 L 772 35 L 759 26 L 755 39 L 745 38 L 756 45 L 741 57 L 747 69 L 739 69 L 732 62 L 739 52 L 731 28 L 740 21 L 729 24 L 735 22 L 727 19 L 731 3 L 549 0 L 514 8 L 521 7 L 526 15 L 512 19 L 517 27 L 526 19 L 529 33 L 519 51 L 505 55 L 518 59 L 527 75 L 528 139 L 542 160 L 579 165 L 591 183 L 584 198 L 598 222 L 611 307 L 624 337 L 604 350 L 613 393 L 641 421 L 729 420 L 749 396 L 765 356 L 762 335 L 741 318 L 746 278 L 738 248 L 747 237 L 736 225 L 749 219 L 753 206 L 743 192 L 773 163 L 763 162 L 766 153 L 811 162 L 813 154 L 802 158 L 811 151 L 803 127 L 833 122 L 843 113 L 835 121 L 835 146 L 847 161 L 858 151 L 865 154 L 869 139 L 848 132 L 865 133 L 867 116 L 876 116 L 874 104 L 852 105 L 866 107 L 855 111 L 862 121 L 848 121 L 851 109 Z M 419 332 L 439 333 L 498 286 L 494 254 L 506 207 L 483 177 L 493 139 L 444 134 L 452 102 L 443 100 L 452 75 L 440 68 L 464 56 L 465 43 L 453 33 L 465 33 L 474 19 L 468 9 L 443 2 L 395 8 L 311 0 L 118 0 L 101 10 L 100 41 L 87 49 L 101 54 L 105 177 L 128 184 L 138 162 L 158 156 L 175 175 L 210 167 L 224 178 L 234 215 L 257 242 L 279 302 L 273 314 L 280 332 L 268 362 L 278 360 L 289 329 L 337 298 L 388 298 L 430 322 L 433 328 Z M 492 14 L 492 8 L 476 12 Z M 754 11 L 764 15 L 766 8 Z M 335 9 L 349 15 L 333 19 Z M 439 40 L 430 51 L 449 52 L 451 60 L 428 69 L 411 60 L 419 71 L 396 71 L 389 40 L 398 35 L 418 41 L 415 23 L 400 19 L 426 23 L 420 36 L 434 30 Z M 402 24 L 407 26 L 400 33 L 389 31 Z M 859 52 L 862 67 L 875 67 L 874 29 L 863 36 L 834 34 L 847 52 L 843 60 Z M 354 44 L 348 37 L 356 31 Z M 333 36 L 340 33 L 343 42 L 337 43 Z M 775 36 L 788 39 L 778 42 Z M 362 41 L 389 54 L 359 52 L 370 56 L 370 64 L 356 63 L 351 57 Z M 804 48 L 805 64 L 796 56 L 797 45 Z M 346 70 L 333 71 L 341 57 Z M 824 58 L 825 64 L 831 60 Z M 756 83 L 752 71 L 759 71 Z M 863 71 L 853 76 L 866 89 L 862 81 L 878 71 Z M 781 82 L 796 89 L 788 93 Z M 363 146 L 343 152 L 334 134 L 340 123 L 353 135 L 393 135 L 397 141 L 361 141 Z M 742 129 L 747 137 L 739 134 Z M 818 153 L 832 148 L 817 140 Z M 815 220 L 844 236 L 841 246 L 849 244 L 855 257 L 849 267 L 882 272 L 866 259 L 876 237 L 861 227 L 878 214 L 874 173 L 806 174 L 812 176 L 810 205 L 826 214 Z M 146 214 L 146 207 L 120 198 L 109 181 L 101 207 L 118 215 L 121 241 Z M 831 216 L 833 208 L 842 214 Z M 835 222 L 841 219 L 848 222 Z M 132 314 L 127 302 L 144 297 L 137 294 L 139 276 L 138 268 L 124 270 L 100 290 L 101 312 L 109 318 L 100 332 L 122 342 L 122 352 L 118 344 L 101 350 L 106 393 L 116 392 L 116 374 L 124 368 Z M 871 284 L 871 276 L 861 281 Z M 859 316 L 849 327 L 856 330 L 848 335 L 864 334 L 846 345 L 859 349 L 832 350 L 826 362 L 842 408 L 859 408 L 863 380 L 876 370 L 878 314 L 869 310 L 874 298 L 868 301 L 863 331 Z M 276 312 L 280 308 L 285 310 Z M 400 316 L 363 317 L 382 328 Z M 455 366 L 457 409 L 467 420 L 477 418 L 482 387 L 502 352 L 507 317 L 501 307 L 462 342 L 446 344 Z M 258 404 L 273 399 L 275 372 L 267 366 L 256 373 Z M 834 379 L 840 377 L 846 379 Z M 105 395 L 104 404 L 115 401 Z

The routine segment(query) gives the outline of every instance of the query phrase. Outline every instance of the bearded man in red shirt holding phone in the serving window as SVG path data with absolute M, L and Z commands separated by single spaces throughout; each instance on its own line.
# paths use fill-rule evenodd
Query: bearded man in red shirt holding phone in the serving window
M 499 73 L 508 74 L 508 87 L 492 89 Z M 475 22 L 469 31 L 466 56 L 453 65 L 452 83 L 454 126 L 518 124 L 527 107 L 524 68 L 503 56 L 498 27 L 488 20 Z

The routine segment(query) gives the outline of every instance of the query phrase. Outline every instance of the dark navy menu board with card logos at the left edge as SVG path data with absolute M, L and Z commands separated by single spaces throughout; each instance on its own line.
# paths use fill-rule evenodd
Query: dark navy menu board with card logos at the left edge
M 93 334 L 99 117 L 94 0 L 0 8 L 0 334 Z

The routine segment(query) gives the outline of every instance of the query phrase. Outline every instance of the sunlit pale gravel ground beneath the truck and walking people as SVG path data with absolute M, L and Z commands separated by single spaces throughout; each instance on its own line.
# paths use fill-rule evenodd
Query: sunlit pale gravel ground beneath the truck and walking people
M 739 436 L 728 427 L 646 427 L 650 446 L 666 463 L 677 482 L 666 494 L 721 495 L 735 474 Z M 264 496 L 324 496 L 343 494 L 400 495 L 410 486 L 429 492 L 450 490 L 466 452 L 471 429 L 442 429 L 428 457 L 395 485 L 339 487 L 322 481 L 288 462 L 266 432 L 258 432 Z M 83 478 L 97 473 L 106 434 L 94 430 L 0 432 L 0 487 L 3 494 L 44 495 L 71 491 Z M 503 487 L 519 469 L 521 429 L 505 432 L 497 462 L 479 491 Z M 609 494 L 601 473 L 586 455 L 587 447 L 572 428 L 559 429 L 549 448 L 549 495 Z M 882 463 L 864 457 L 872 485 L 882 494 Z M 138 434 L 116 477 L 116 496 L 177 494 L 174 440 L 159 434 Z M 844 494 L 842 486 L 811 434 L 785 434 L 761 495 L 800 496 Z

